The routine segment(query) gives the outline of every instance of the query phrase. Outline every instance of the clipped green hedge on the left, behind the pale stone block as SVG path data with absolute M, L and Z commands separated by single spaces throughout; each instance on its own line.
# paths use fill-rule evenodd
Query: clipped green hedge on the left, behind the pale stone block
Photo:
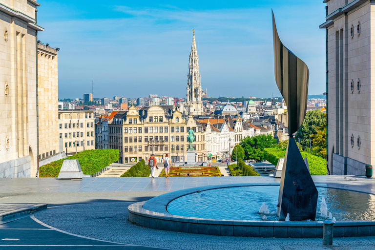
M 117 162 L 119 158 L 120 154 L 117 149 L 84 150 L 75 155 L 39 167 L 39 176 L 56 178 L 59 176 L 63 161 L 74 159 L 77 159 L 80 163 L 83 174 L 91 175 Z

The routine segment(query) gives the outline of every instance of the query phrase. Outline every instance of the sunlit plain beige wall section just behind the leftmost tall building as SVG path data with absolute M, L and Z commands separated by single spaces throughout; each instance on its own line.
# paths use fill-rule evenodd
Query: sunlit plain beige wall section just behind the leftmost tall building
M 39 159 L 59 153 L 58 56 L 38 44 Z

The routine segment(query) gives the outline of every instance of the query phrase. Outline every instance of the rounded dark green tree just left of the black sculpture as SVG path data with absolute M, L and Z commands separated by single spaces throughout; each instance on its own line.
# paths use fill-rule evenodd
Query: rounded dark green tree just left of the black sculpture
M 260 162 L 263 160 L 263 149 L 265 147 L 277 146 L 277 140 L 272 135 L 257 135 L 254 137 L 246 137 L 240 144 L 245 151 L 245 159 Z

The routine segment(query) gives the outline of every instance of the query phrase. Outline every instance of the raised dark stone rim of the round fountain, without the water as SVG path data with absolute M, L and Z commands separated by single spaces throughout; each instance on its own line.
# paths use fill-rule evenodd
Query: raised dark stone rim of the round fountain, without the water
M 152 198 L 146 202 L 132 204 L 128 207 L 129 220 L 136 224 L 151 228 L 187 233 L 200 233 L 223 236 L 247 237 L 280 237 L 280 238 L 314 238 L 322 237 L 321 221 L 286 222 L 276 220 L 235 220 L 202 218 L 170 214 L 169 204 L 178 198 L 202 191 L 232 187 L 270 187 L 277 183 L 231 184 L 183 189 Z M 317 185 L 324 187 L 324 185 Z M 227 189 L 228 190 L 228 189 Z M 235 197 L 233 197 L 235 198 Z M 318 201 L 319 203 L 320 201 Z M 269 208 L 273 204 L 268 204 Z M 228 204 L 227 204 L 228 206 Z M 259 209 L 259 207 L 257 207 Z M 374 220 L 337 221 L 334 225 L 334 237 L 373 236 L 375 235 Z

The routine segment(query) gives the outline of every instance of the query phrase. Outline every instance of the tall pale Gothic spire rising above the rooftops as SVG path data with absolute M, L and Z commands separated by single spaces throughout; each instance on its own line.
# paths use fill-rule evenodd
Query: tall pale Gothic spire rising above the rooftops
M 199 58 L 197 45 L 195 44 L 194 30 L 189 56 L 189 73 L 187 74 L 186 91 L 186 104 L 184 110 L 181 110 L 181 112 L 185 111 L 187 114 L 191 115 L 203 115 L 201 73 L 199 71 Z

